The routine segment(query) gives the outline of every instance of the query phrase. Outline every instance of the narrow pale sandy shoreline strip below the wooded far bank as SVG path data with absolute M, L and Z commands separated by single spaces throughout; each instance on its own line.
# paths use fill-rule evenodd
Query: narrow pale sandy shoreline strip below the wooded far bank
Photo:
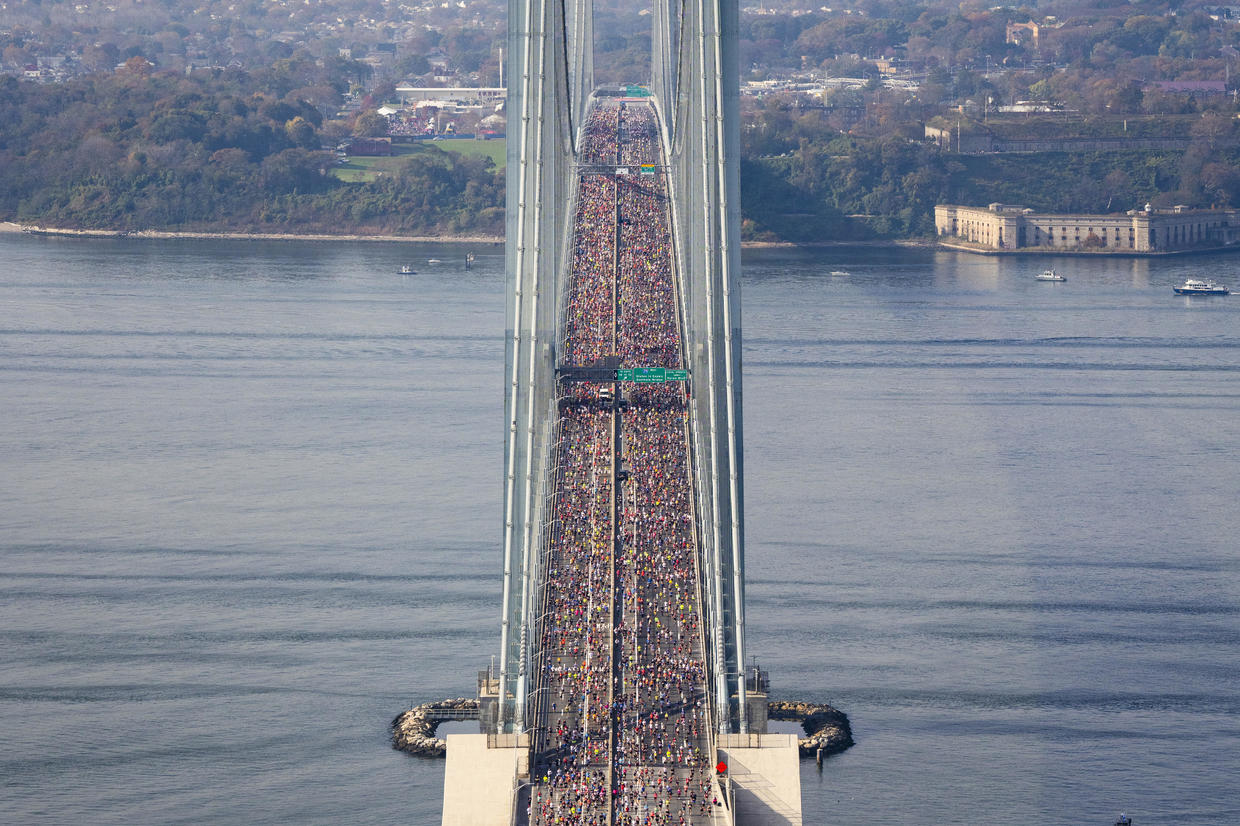
M 60 238 L 136 238 L 151 241 L 365 241 L 417 244 L 482 244 L 502 246 L 503 236 L 377 236 L 360 233 L 322 233 L 322 232 L 239 232 L 239 231 L 172 231 L 172 229 L 72 229 L 67 227 L 45 227 L 41 224 L 22 224 L 14 221 L 0 221 L 0 233 L 26 233 L 33 236 L 56 236 Z M 931 249 L 937 246 L 932 239 L 923 238 L 883 238 L 875 241 L 743 241 L 744 249 L 818 249 L 831 247 L 909 247 Z

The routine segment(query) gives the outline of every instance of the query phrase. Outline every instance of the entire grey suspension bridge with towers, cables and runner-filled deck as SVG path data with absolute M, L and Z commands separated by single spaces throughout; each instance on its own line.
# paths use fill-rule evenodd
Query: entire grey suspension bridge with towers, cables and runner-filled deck
M 746 667 L 734 0 L 510 0 L 503 590 L 445 826 L 800 824 Z

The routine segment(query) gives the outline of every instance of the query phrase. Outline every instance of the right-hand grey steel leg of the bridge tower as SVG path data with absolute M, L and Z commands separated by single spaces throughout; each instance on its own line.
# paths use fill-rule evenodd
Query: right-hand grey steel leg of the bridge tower
M 749 729 L 744 680 L 740 104 L 735 0 L 656 0 L 655 87 L 693 372 L 692 427 L 719 733 Z

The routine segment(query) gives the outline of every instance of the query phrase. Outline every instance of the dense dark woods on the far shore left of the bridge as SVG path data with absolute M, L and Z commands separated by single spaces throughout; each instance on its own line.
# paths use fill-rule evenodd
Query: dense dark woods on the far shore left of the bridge
M 502 174 L 424 146 L 350 184 L 321 115 L 244 72 L 0 78 L 0 218 L 114 229 L 502 232 Z

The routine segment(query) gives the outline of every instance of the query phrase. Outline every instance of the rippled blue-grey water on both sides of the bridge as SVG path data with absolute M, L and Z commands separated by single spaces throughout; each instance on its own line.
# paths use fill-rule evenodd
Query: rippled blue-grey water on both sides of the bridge
M 0 821 L 438 822 L 387 726 L 498 646 L 475 252 L 0 236 Z M 1240 286 L 746 257 L 749 647 L 857 737 L 807 824 L 1240 820 L 1240 299 L 1172 294 L 1202 273 Z

